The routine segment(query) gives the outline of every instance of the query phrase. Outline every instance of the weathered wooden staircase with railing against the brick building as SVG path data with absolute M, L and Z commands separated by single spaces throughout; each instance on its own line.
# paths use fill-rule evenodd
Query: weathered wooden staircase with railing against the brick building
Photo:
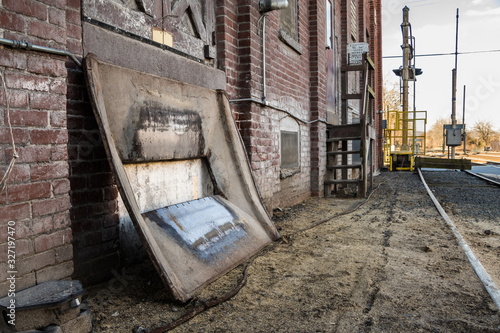
M 375 93 L 371 83 L 374 69 L 374 63 L 367 53 L 363 55 L 360 65 L 342 66 L 342 121 L 347 123 L 350 100 L 361 102 L 360 121 L 354 124 L 327 126 L 327 166 L 324 182 L 327 197 L 354 186 L 357 196 L 365 197 L 368 177 L 372 186 Z M 348 93 L 349 72 L 361 72 L 362 84 L 359 93 Z M 357 143 L 359 149 L 353 148 Z

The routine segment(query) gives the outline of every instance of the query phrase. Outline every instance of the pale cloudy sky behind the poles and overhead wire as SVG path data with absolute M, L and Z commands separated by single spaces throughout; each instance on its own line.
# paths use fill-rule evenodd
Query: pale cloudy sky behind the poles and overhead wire
M 456 15 L 459 9 L 456 115 L 462 121 L 464 85 L 465 123 L 471 128 L 478 121 L 489 121 L 500 130 L 500 0 L 382 0 L 383 56 L 401 56 L 403 7 L 410 9 L 410 24 L 415 37 L 417 77 L 416 108 L 427 111 L 427 129 L 438 119 L 449 119 L 452 109 L 452 69 L 455 56 L 418 56 L 454 53 Z M 402 58 L 384 58 L 383 72 L 387 87 L 399 78 L 392 69 L 402 65 Z M 413 101 L 413 86 L 410 83 Z M 413 110 L 413 103 L 410 103 Z

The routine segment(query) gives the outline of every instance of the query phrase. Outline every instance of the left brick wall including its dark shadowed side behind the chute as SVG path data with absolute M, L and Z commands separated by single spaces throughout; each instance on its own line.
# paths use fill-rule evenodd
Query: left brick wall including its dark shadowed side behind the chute
M 82 54 L 80 0 L 5 0 L 6 39 Z M 17 289 L 49 279 L 103 281 L 119 265 L 117 189 L 81 68 L 63 56 L 0 49 L 19 158 L 0 197 L 0 281 L 16 223 Z M 0 89 L 0 176 L 12 157 Z M 0 283 L 0 295 L 6 293 Z

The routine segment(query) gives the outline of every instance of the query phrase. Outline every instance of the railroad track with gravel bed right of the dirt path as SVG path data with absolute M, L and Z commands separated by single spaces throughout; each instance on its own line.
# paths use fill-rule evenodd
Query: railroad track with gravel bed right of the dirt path
M 500 182 L 473 172 L 422 172 L 422 183 L 500 309 Z M 471 177 L 473 176 L 473 177 Z

